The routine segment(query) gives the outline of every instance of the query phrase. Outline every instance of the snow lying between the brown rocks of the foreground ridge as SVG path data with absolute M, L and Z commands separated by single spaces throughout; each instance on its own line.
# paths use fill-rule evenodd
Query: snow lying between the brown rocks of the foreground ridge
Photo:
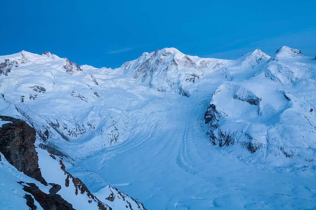
M 118 191 L 116 188 L 111 186 L 106 186 L 105 188 L 99 190 L 92 196 L 88 195 L 86 191 L 83 193 L 75 193 L 76 185 L 70 180 L 70 184 L 65 186 L 65 179 L 67 179 L 67 174 L 61 169 L 61 165 L 57 160 L 54 160 L 46 150 L 40 148 L 37 149 L 39 155 L 39 166 L 42 172 L 44 179 L 48 183 L 54 183 L 61 185 L 61 190 L 58 191 L 58 194 L 64 198 L 66 201 L 72 204 L 72 207 L 77 210 L 86 210 L 86 209 L 99 209 L 98 198 L 101 199 L 101 202 L 105 204 L 105 207 L 111 207 L 115 209 L 144 209 L 142 204 L 133 200 L 128 195 Z M 51 185 L 45 186 L 39 181 L 32 179 L 25 175 L 24 173 L 19 172 L 15 167 L 13 167 L 0 153 L 1 164 L 0 164 L 0 177 L 1 177 L 1 190 L 0 190 L 0 208 L 5 209 L 29 209 L 25 195 L 30 195 L 34 204 L 37 207 L 36 209 L 43 209 L 39 202 L 34 199 L 34 196 L 24 191 L 23 186 L 28 186 L 34 183 L 39 187 L 41 191 L 46 194 L 49 194 L 49 189 Z M 70 178 L 71 179 L 71 178 Z M 105 198 L 109 197 L 113 193 L 114 200 L 109 201 Z M 95 197 L 97 196 L 97 197 Z M 128 206 L 128 207 L 126 207 Z

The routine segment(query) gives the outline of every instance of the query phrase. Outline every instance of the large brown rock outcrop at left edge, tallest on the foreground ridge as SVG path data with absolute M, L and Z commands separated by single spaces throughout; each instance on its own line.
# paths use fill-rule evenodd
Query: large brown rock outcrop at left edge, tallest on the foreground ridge
M 4 124 L 0 128 L 0 151 L 18 171 L 47 185 L 42 177 L 35 150 L 35 129 L 26 122 L 8 116 L 0 116 Z

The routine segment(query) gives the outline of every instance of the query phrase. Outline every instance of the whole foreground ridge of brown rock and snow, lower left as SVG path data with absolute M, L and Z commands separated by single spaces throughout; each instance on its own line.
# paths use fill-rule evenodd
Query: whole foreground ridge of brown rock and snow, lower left
M 10 202 L 10 205 L 5 206 L 7 209 L 10 206 L 14 208 L 15 205 L 24 206 L 24 208 L 19 209 L 27 209 L 28 207 L 31 210 L 115 210 L 123 209 L 122 207 L 124 209 L 145 209 L 142 203 L 111 186 L 107 188 L 108 195 L 105 194 L 105 197 L 99 200 L 79 178 L 73 177 L 65 170 L 65 165 L 61 159 L 58 161 L 55 156 L 40 148 L 37 148 L 39 152 L 36 151 L 34 146 L 36 131 L 34 128 L 20 119 L 9 116 L 0 116 L 0 118 L 5 121 L 0 128 L 0 171 L 5 174 L 8 171 L 8 164 L 14 166 L 21 173 L 17 177 L 14 174 L 6 176 L 6 179 L 20 184 L 18 189 L 25 191 L 24 194 L 15 194 L 15 196 L 25 199 L 25 205 L 16 203 L 15 200 L 5 200 L 4 202 Z M 39 158 L 46 158 L 54 164 L 50 164 L 46 160 L 46 166 L 41 165 L 40 168 Z M 48 183 L 51 179 L 47 174 L 51 174 L 53 177 L 61 174 L 64 179 L 59 180 L 58 184 Z M 10 188 L 11 186 L 4 185 L 2 190 L 6 187 Z

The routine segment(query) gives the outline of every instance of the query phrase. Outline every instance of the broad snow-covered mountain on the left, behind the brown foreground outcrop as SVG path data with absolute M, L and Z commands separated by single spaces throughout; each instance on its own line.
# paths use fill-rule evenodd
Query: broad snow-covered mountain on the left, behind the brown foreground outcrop
M 98 94 L 102 81 L 90 72 L 49 52 L 22 51 L 0 62 L 3 114 L 30 123 L 38 146 L 62 154 L 72 147 L 75 158 L 124 141 L 128 116 Z

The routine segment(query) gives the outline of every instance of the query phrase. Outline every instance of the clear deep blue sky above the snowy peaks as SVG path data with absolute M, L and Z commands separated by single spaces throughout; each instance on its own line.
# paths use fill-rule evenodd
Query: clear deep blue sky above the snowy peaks
M 50 51 L 78 65 L 119 67 L 175 47 L 236 59 L 286 45 L 316 53 L 316 1 L 2 1 L 0 55 Z

